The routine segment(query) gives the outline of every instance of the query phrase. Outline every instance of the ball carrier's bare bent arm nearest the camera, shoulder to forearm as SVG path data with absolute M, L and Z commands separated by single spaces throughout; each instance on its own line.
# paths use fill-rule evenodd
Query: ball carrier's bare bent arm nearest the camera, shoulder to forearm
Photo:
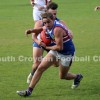
M 54 29 L 54 36 L 55 36 L 56 45 L 46 46 L 46 49 L 57 50 L 57 51 L 63 50 L 63 32 L 64 32 L 64 30 L 62 28 L 56 27 Z

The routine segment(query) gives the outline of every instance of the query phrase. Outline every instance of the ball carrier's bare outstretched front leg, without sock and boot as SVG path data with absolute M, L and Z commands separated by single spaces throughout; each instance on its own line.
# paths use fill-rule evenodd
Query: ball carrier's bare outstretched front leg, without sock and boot
M 32 78 L 32 81 L 31 81 L 29 87 L 34 88 L 34 86 L 39 81 L 40 77 L 42 76 L 42 73 L 54 63 L 55 59 L 56 59 L 55 56 L 53 56 L 50 53 L 48 53 L 43 58 L 42 62 L 40 63 L 40 65 L 38 66 L 37 70 L 34 73 L 34 76 Z

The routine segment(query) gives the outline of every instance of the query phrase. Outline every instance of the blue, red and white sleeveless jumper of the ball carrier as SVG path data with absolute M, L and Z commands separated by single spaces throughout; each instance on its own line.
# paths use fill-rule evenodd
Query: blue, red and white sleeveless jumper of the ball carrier
M 47 29 L 47 34 L 50 35 L 52 40 L 55 40 L 55 38 L 54 38 L 54 28 L 55 27 L 61 27 L 66 32 L 66 36 L 63 37 L 63 50 L 57 51 L 57 52 L 64 54 L 64 55 L 69 55 L 69 54 L 74 55 L 75 47 L 74 47 L 73 41 L 69 36 L 69 34 L 70 34 L 69 30 L 63 24 L 61 24 L 59 21 L 55 20 L 53 28 L 51 30 Z M 55 43 L 55 41 L 54 41 L 54 43 Z

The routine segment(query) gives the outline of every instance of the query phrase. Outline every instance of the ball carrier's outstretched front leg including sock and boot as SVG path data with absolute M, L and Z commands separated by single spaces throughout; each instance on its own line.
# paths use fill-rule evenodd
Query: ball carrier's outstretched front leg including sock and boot
M 17 94 L 20 96 L 30 96 L 34 87 L 36 86 L 36 84 L 40 80 L 43 72 L 45 70 L 47 70 L 54 63 L 54 60 L 55 60 L 55 56 L 48 53 L 43 58 L 41 64 L 38 66 L 37 70 L 35 71 L 34 76 L 32 77 L 31 83 L 29 85 L 29 88 L 27 90 L 24 90 L 24 91 L 17 91 Z

